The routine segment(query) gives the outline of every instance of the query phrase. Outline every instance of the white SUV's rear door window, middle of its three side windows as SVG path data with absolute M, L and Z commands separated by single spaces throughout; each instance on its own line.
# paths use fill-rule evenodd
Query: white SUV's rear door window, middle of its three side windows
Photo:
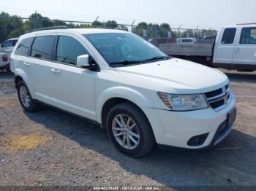
M 52 59 L 55 36 L 39 36 L 34 40 L 31 56 L 43 59 Z

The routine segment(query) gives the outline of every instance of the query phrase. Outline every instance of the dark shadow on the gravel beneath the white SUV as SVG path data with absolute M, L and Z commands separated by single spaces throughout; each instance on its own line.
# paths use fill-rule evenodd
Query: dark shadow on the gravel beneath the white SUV
M 160 150 L 133 159 L 122 155 L 106 130 L 50 106 L 25 114 L 34 122 L 118 162 L 126 171 L 144 175 L 167 186 L 256 185 L 256 138 L 233 130 L 218 147 L 205 152 Z

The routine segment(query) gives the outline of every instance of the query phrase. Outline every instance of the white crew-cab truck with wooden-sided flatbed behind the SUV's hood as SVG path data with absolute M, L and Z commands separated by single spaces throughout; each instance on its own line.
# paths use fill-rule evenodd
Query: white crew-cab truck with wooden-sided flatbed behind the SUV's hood
M 238 71 L 256 70 L 256 23 L 226 26 L 213 44 L 160 44 L 167 55 L 207 66 Z

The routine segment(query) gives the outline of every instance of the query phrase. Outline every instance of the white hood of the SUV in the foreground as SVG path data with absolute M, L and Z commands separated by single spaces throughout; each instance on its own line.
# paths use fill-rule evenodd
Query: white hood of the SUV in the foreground
M 224 87 L 228 83 L 228 78 L 222 71 L 177 58 L 118 67 L 116 71 L 161 86 L 176 88 L 180 93 L 204 93 Z

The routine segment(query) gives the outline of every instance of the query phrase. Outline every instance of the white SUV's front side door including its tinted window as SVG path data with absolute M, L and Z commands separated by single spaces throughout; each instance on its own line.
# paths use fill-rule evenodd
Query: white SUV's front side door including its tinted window
M 76 36 L 61 35 L 56 45 L 56 62 L 51 64 L 51 97 L 55 106 L 96 120 L 94 79 L 96 71 L 77 66 L 79 55 L 89 52 Z

